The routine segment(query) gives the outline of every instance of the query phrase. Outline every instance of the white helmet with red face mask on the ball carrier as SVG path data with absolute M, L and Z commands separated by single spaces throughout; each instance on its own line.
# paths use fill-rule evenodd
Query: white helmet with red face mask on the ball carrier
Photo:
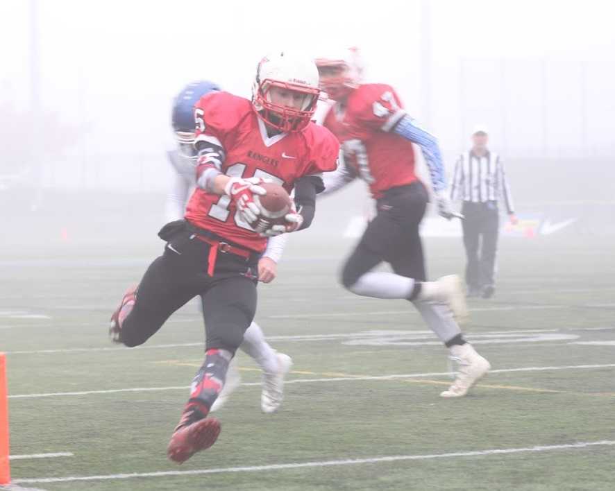
M 273 87 L 301 94 L 301 107 L 273 103 Z M 260 60 L 252 85 L 252 105 L 269 126 L 283 132 L 303 130 L 312 119 L 319 94 L 318 70 L 309 58 L 283 52 Z

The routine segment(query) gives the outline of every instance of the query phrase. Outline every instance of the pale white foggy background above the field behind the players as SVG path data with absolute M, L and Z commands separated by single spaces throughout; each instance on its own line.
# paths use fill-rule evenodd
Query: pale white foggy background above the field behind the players
M 249 97 L 269 51 L 352 45 L 366 81 L 437 135 L 448 175 L 485 124 L 522 218 L 613 232 L 614 14 L 598 0 L 3 0 L 0 247 L 155 241 L 184 85 Z M 357 206 L 323 201 L 312 236 L 362 214 L 364 186 L 345 192 Z

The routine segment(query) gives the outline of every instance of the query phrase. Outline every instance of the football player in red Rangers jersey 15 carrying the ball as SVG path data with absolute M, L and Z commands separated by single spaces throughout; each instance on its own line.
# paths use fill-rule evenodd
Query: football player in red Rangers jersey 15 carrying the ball
M 162 227 L 165 252 L 112 316 L 114 341 L 137 346 L 201 296 L 205 361 L 167 449 L 178 463 L 213 445 L 219 434 L 219 421 L 207 416 L 254 317 L 267 237 L 310 225 L 323 190 L 321 173 L 337 166 L 337 139 L 310 121 L 319 92 L 314 62 L 278 53 L 258 64 L 251 101 L 227 92 L 201 98 L 194 110 L 197 188 L 185 220 Z M 254 196 L 265 193 L 264 180 L 294 189 L 296 209 L 285 225 L 257 233 L 249 223 L 258 221 Z

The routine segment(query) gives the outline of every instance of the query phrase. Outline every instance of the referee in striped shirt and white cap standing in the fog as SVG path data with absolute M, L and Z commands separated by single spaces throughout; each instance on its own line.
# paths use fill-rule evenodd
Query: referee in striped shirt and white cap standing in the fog
M 468 296 L 491 298 L 496 292 L 495 266 L 498 245 L 498 200 L 503 198 L 510 222 L 514 225 L 512 197 L 500 156 L 487 148 L 485 126 L 476 126 L 472 148 L 455 164 L 450 199 L 462 200 L 466 284 Z M 480 252 L 479 252 L 480 249 Z

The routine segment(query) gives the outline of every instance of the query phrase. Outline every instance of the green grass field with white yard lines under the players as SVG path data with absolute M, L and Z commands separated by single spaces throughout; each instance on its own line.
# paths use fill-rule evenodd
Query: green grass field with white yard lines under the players
M 125 286 L 162 243 L 67 243 L 3 258 L 11 454 L 71 454 L 12 460 L 15 484 L 615 489 L 613 239 L 502 241 L 496 297 L 470 302 L 465 329 L 494 372 L 460 400 L 439 398 L 450 383 L 446 351 L 410 304 L 355 297 L 337 284 L 351 244 L 292 239 L 279 278 L 260 287 L 257 316 L 294 359 L 283 408 L 260 412 L 260 372 L 239 354 L 243 385 L 219 413 L 218 442 L 181 466 L 165 449 L 201 364 L 195 305 L 144 347 L 117 348 L 106 337 Z M 457 239 L 427 248 L 431 277 L 462 271 Z M 82 480 L 89 476 L 97 477 Z

